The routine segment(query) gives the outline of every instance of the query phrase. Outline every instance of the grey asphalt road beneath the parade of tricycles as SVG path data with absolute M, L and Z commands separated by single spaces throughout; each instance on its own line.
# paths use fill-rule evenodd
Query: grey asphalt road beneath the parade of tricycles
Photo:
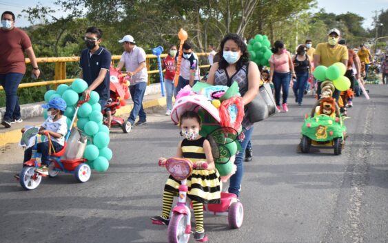
M 210 242 L 388 242 L 388 86 L 368 88 L 371 100 L 356 98 L 349 109 L 340 156 L 297 153 L 311 95 L 301 107 L 290 97 L 288 113 L 257 123 L 241 191 L 243 226 L 231 230 L 225 216 L 205 215 Z M 149 220 L 161 210 L 167 178 L 156 162 L 173 156 L 181 140 L 163 112 L 130 134 L 112 131 L 110 168 L 83 184 L 59 174 L 24 191 L 12 178 L 21 149 L 3 151 L 0 242 L 167 242 L 167 228 Z

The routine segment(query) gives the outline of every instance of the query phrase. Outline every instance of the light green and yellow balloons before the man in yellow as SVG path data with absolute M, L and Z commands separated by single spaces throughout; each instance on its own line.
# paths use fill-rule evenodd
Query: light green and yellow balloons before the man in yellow
M 343 63 L 334 63 L 330 67 L 318 66 L 314 70 L 314 77 L 318 81 L 332 81 L 334 87 L 340 91 L 346 91 L 350 87 L 350 80 L 344 76 L 346 66 Z

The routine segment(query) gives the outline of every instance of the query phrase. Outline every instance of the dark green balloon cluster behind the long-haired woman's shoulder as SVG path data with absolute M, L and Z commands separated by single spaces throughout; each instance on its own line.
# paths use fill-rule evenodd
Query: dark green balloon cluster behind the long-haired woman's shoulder
M 270 46 L 271 42 L 266 35 L 256 34 L 254 39 L 250 39 L 247 45 L 249 60 L 257 65 L 269 66 L 268 60 L 272 56 Z

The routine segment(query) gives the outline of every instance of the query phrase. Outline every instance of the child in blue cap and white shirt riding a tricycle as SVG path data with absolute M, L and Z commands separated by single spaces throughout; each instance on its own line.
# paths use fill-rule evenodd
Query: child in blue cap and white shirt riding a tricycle
M 62 98 L 53 98 L 48 104 L 42 105 L 48 109 L 48 118 L 41 125 L 39 134 L 45 135 L 43 142 L 37 144 L 37 152 L 42 154 L 41 167 L 36 169 L 38 173 L 48 176 L 48 165 L 50 164 L 49 152 L 51 139 L 51 153 L 61 151 L 65 145 L 65 135 L 68 133 L 68 124 L 66 116 L 63 113 L 66 110 L 66 103 Z M 24 162 L 27 162 L 32 157 L 32 147 L 25 149 Z

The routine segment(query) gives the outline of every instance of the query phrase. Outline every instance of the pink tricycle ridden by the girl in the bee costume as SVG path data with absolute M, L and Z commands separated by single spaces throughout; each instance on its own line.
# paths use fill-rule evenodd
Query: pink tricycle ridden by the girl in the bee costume
M 170 223 L 168 224 L 168 242 L 187 243 L 190 240 L 192 226 L 190 208 L 186 203 L 186 194 L 188 191 L 186 182 L 187 178 L 192 174 L 195 165 L 185 158 L 169 158 L 165 163 L 159 161 L 159 166 L 165 166 L 167 171 L 176 178 L 176 180 L 181 181 L 178 202 L 172 209 Z M 201 169 L 206 168 L 207 163 L 204 162 Z M 214 215 L 227 214 L 228 223 L 232 229 L 238 229 L 243 224 L 243 204 L 241 204 L 234 193 L 221 193 L 221 204 L 207 204 L 205 210 L 214 213 Z M 152 223 L 158 224 L 158 221 L 153 221 Z M 207 241 L 207 238 L 203 239 L 203 241 Z

